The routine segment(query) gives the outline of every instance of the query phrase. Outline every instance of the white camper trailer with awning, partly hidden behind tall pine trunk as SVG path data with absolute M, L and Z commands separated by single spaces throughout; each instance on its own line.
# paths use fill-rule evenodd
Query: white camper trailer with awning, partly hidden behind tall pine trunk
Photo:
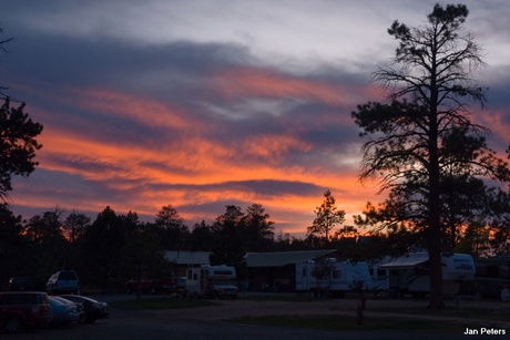
M 430 291 L 429 255 L 411 253 L 379 266 L 389 271 L 389 292 L 425 297 Z M 470 255 L 442 256 L 442 289 L 448 296 L 459 292 L 461 281 L 475 279 L 475 262 Z

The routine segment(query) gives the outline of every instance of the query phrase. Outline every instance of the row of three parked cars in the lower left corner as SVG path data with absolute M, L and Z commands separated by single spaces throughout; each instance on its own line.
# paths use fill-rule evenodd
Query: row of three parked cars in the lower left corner
M 106 302 L 76 296 L 48 296 L 43 291 L 0 292 L 0 327 L 8 333 L 21 329 L 92 323 L 110 316 Z

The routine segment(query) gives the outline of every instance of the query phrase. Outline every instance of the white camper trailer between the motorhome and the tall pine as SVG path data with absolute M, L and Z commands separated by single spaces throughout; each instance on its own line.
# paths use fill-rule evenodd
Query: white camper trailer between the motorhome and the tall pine
M 328 292 L 343 297 L 349 290 L 364 290 L 371 287 L 367 262 L 306 261 L 296 265 L 296 291 L 314 293 Z

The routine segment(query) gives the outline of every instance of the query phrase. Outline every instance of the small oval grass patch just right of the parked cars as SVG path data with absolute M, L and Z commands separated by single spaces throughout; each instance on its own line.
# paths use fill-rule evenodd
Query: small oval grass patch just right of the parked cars
M 149 298 L 149 299 L 133 299 L 124 301 L 112 301 L 110 305 L 133 309 L 133 310 L 143 310 L 143 309 L 178 309 L 178 308 L 200 308 L 207 306 L 221 306 L 221 303 L 213 302 L 211 300 L 203 299 L 175 299 L 175 298 Z

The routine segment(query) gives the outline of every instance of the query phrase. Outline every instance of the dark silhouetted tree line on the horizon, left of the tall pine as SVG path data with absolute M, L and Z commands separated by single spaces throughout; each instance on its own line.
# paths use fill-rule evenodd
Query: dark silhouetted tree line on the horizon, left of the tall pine
M 154 277 L 175 274 L 165 250 L 210 251 L 213 265 L 231 265 L 246 272 L 244 256 L 249 251 L 316 249 L 319 236 L 305 239 L 279 233 L 261 204 L 244 212 L 226 206 L 212 223 L 188 227 L 176 208 L 166 205 L 154 221 L 141 221 L 137 214 L 116 214 L 111 207 L 94 220 L 55 207 L 28 219 L 0 205 L 0 266 L 3 284 L 13 276 L 47 279 L 61 269 L 74 269 L 84 284 L 120 289 L 141 270 Z M 345 243 L 353 248 L 355 239 Z M 338 246 L 330 240 L 328 247 Z M 353 251 L 344 247 L 346 258 Z

